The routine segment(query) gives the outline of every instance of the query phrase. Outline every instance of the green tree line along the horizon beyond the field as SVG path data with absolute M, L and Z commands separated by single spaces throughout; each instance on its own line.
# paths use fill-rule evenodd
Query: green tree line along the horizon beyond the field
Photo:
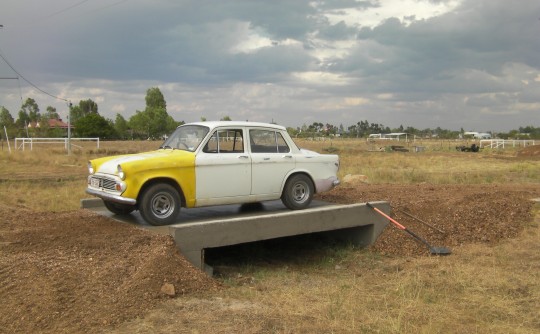
M 99 137 L 102 139 L 160 139 L 170 134 L 183 121 L 175 121 L 167 113 L 167 103 L 157 87 L 146 91 L 146 108 L 137 110 L 133 116 L 126 120 L 122 115 L 116 114 L 115 120 L 106 119 L 98 112 L 98 105 L 91 99 L 81 100 L 78 105 L 69 105 L 73 137 Z M 66 128 L 49 126 L 49 120 L 60 120 L 55 108 L 48 106 L 41 113 L 34 99 L 28 98 L 22 104 L 17 119 L 14 119 L 9 110 L 0 107 L 0 128 L 7 129 L 10 137 L 64 137 Z M 205 121 L 204 117 L 201 121 Z M 222 120 L 230 121 L 226 116 Z M 57 124 L 57 123 L 56 123 Z M 370 123 L 367 120 L 345 128 L 343 124 L 323 124 L 313 122 L 311 125 L 287 128 L 294 137 L 345 137 L 366 138 L 370 134 L 400 132 L 409 136 L 420 138 L 456 139 L 465 138 L 465 131 L 452 131 L 437 127 L 435 129 L 417 129 L 412 126 L 390 128 L 383 124 Z M 1 131 L 2 137 L 4 131 Z M 540 139 L 540 127 L 524 126 L 508 133 L 491 133 L 493 138 L 501 139 Z

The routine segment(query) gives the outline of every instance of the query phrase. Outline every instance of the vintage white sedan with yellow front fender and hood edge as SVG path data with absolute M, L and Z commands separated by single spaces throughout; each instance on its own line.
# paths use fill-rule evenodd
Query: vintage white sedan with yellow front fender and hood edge
M 89 161 L 86 192 L 115 214 L 139 210 L 152 225 L 180 208 L 281 199 L 306 208 L 339 184 L 337 155 L 299 149 L 283 126 L 199 122 L 179 126 L 158 150 Z

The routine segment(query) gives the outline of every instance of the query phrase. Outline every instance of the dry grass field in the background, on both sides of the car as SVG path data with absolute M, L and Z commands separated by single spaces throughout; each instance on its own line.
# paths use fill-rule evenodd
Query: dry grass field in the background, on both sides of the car
M 143 152 L 157 148 L 153 141 L 84 143 L 66 154 L 62 145 L 38 146 L 34 150 L 0 151 L 0 197 L 35 210 L 66 211 L 79 208 L 85 198 L 86 164 L 89 159 Z M 302 148 L 340 155 L 340 178 L 347 174 L 366 175 L 373 184 L 483 184 L 538 183 L 540 166 L 534 160 L 511 159 L 516 149 L 484 149 L 479 153 L 457 152 L 460 142 L 424 141 L 406 143 L 424 146 L 424 152 L 376 151 L 383 145 L 402 142 L 367 143 L 365 140 L 298 140 Z M 468 143 L 467 143 L 468 144 Z M 22 196 L 13 196 L 22 194 Z M 30 196 L 28 196 L 30 195 Z M 28 203 L 28 198 L 32 203 Z

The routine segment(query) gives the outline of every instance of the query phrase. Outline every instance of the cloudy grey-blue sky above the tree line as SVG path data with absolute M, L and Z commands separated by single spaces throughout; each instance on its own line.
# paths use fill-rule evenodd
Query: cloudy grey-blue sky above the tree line
M 15 118 L 129 119 L 159 87 L 186 122 L 540 126 L 538 0 L 2 0 L 0 25 Z

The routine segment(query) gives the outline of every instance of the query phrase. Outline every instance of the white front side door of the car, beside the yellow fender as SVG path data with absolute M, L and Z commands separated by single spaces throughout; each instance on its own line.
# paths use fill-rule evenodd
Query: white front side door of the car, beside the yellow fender
M 251 159 L 242 128 L 219 128 L 195 158 L 196 206 L 228 204 L 249 196 Z

